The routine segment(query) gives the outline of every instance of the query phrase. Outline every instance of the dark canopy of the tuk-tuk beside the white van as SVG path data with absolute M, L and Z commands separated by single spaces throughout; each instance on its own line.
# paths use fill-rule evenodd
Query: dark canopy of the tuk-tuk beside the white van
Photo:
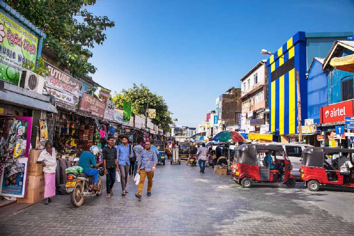
M 236 148 L 235 158 L 237 163 L 242 163 L 246 165 L 257 165 L 257 150 L 262 151 L 284 151 L 282 146 L 270 146 L 261 144 L 242 144 Z

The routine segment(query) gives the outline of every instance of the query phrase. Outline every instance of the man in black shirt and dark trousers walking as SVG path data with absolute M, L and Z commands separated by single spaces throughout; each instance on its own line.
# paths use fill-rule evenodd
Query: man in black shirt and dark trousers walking
M 106 189 L 107 198 L 110 198 L 113 194 L 113 185 L 115 182 L 115 172 L 119 172 L 118 161 L 117 161 L 117 150 L 114 146 L 114 138 L 112 136 L 108 137 L 108 145 L 102 150 L 103 155 L 103 167 L 104 173 L 106 175 Z

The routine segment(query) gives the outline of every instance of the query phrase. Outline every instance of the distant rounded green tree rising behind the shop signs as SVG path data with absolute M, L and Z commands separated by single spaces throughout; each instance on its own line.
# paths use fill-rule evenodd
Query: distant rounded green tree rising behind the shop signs
M 156 109 L 156 119 L 152 119 L 152 122 L 164 129 L 164 131 L 170 131 L 170 124 L 174 125 L 177 119 L 171 118 L 171 111 L 167 106 L 165 100 L 153 93 L 149 88 L 143 84 L 137 86 L 133 84 L 132 88 L 128 90 L 123 89 L 121 93 L 115 93 L 112 96 L 112 101 L 116 107 L 123 107 L 124 102 L 132 102 L 132 112 L 135 114 L 145 115 L 146 109 Z M 148 107 L 149 103 L 149 107 Z

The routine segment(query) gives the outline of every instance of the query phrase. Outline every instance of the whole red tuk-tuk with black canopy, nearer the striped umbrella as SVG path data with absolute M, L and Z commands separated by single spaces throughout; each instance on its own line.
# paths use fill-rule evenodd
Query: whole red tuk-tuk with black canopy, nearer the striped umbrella
M 244 188 L 251 188 L 253 181 L 294 187 L 296 180 L 291 170 L 291 162 L 282 146 L 242 144 L 236 148 L 231 174 Z

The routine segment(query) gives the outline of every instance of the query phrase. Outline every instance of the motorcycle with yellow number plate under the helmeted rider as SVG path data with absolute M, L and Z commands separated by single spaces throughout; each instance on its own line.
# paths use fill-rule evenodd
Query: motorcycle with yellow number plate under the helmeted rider
M 93 190 L 93 176 L 85 173 L 68 173 L 68 181 L 65 184 L 67 192 L 70 194 L 71 203 L 74 207 L 79 207 L 84 203 L 84 198 L 88 196 L 99 196 L 102 194 L 101 177 L 103 175 L 103 167 L 98 167 L 97 191 Z

